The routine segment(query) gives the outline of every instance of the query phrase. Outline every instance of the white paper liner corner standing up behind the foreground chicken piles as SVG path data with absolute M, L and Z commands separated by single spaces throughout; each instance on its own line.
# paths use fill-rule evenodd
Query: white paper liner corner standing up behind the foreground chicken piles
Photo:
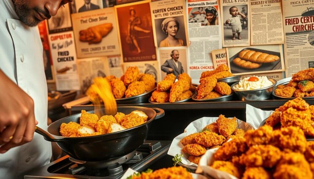
M 258 129 L 263 120 L 268 118 L 274 111 L 263 111 L 246 104 L 246 123 L 251 124 L 254 129 Z

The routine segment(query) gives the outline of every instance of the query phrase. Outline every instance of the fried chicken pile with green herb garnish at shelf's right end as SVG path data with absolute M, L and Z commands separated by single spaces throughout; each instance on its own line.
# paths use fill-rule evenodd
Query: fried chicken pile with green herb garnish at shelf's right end
M 275 95 L 282 97 L 314 96 L 314 68 L 308 68 L 292 75 L 287 85 L 278 85 Z

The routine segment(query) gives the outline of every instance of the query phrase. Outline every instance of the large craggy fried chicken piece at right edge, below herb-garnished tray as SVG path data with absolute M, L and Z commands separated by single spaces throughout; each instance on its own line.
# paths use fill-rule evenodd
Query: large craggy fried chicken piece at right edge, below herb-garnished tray
M 298 111 L 294 108 L 288 108 L 281 114 L 281 126 L 300 127 L 304 134 L 314 136 L 314 122 L 311 120 L 311 112 L 309 110 Z

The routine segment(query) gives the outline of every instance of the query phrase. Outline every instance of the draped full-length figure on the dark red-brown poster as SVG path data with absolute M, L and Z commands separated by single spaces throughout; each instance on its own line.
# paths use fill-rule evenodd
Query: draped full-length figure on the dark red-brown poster
M 128 25 L 127 25 L 127 43 L 128 44 L 133 44 L 138 53 L 141 53 L 141 49 L 138 45 L 138 32 L 143 32 L 143 33 L 150 33 L 150 30 L 145 30 L 139 27 L 139 25 L 142 24 L 142 21 L 140 17 L 136 16 L 136 12 L 134 8 L 129 9 L 130 13 L 130 19 L 128 20 Z

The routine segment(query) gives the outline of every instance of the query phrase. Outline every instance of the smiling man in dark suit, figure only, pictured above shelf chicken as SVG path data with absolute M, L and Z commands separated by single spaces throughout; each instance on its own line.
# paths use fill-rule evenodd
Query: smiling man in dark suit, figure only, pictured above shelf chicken
M 184 72 L 182 63 L 179 60 L 179 51 L 171 51 L 171 59 L 166 60 L 165 63 L 161 66 L 161 70 L 166 72 L 167 75 L 173 73 L 176 78 Z

